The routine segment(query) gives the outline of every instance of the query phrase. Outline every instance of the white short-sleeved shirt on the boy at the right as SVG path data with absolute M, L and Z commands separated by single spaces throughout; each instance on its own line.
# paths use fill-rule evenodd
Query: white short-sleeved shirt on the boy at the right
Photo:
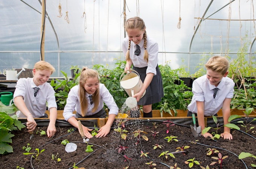
M 218 113 L 223 106 L 223 101 L 226 98 L 233 98 L 234 95 L 234 81 L 229 77 L 223 77 L 219 82 L 216 97 L 213 98 L 213 89 L 215 85 L 210 84 L 206 75 L 203 75 L 193 81 L 192 92 L 193 97 L 187 109 L 192 113 L 197 113 L 196 101 L 204 102 L 204 116 L 212 116 Z

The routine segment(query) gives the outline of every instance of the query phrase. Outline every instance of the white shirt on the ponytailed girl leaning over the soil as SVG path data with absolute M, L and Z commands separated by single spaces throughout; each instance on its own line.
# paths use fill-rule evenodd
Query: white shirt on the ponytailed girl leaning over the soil
M 108 109 L 110 109 L 108 112 L 108 115 L 118 114 L 118 107 L 116 105 L 116 102 L 114 101 L 113 96 L 110 94 L 108 89 L 104 86 L 104 84 L 101 84 L 101 83 L 99 84 L 99 106 L 95 112 L 92 112 L 94 103 L 92 105 L 90 104 L 89 94 L 86 93 L 85 97 L 87 98 L 87 102 L 88 102 L 86 116 L 90 116 L 98 113 L 103 108 L 103 103 L 105 103 L 108 106 Z M 82 115 L 80 98 L 79 98 L 79 85 L 74 86 L 69 92 L 69 95 L 67 98 L 67 104 L 64 107 L 64 111 L 63 111 L 64 119 L 67 121 L 69 118 L 75 117 L 76 115 L 73 114 L 73 111 L 75 110 L 76 110 L 76 113 L 78 113 L 79 115 Z

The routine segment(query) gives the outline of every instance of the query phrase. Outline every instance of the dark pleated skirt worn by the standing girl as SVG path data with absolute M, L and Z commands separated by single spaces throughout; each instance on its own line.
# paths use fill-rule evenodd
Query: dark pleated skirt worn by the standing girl
M 144 83 L 144 80 L 146 78 L 146 69 L 148 67 L 144 68 L 137 68 L 133 66 L 133 70 L 137 71 L 140 75 L 140 80 Z M 157 74 L 154 75 L 152 78 L 151 83 L 149 84 L 148 88 L 146 89 L 146 94 L 139 100 L 138 105 L 149 105 L 158 103 L 163 98 L 163 81 L 162 81 L 162 75 L 159 70 L 159 67 L 155 68 L 157 71 Z

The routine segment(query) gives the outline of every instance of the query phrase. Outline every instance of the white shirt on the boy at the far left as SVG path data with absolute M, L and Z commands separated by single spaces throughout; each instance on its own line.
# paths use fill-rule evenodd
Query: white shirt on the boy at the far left
M 38 87 L 40 90 L 37 96 L 34 97 L 34 88 Z M 23 100 L 27 106 L 27 109 L 32 114 L 34 118 L 40 118 L 44 116 L 46 111 L 46 102 L 48 103 L 48 109 L 55 107 L 57 109 L 57 104 L 55 100 L 55 91 L 49 83 L 44 83 L 40 86 L 35 85 L 33 78 L 20 78 L 15 86 L 15 92 L 13 98 L 22 96 Z M 26 116 L 17 111 L 18 118 L 26 118 Z

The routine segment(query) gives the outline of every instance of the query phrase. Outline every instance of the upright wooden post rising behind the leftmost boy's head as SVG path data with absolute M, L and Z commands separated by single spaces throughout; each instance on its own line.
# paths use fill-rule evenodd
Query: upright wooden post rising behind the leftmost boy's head
M 41 57 L 40 60 L 44 60 L 44 35 L 45 35 L 45 7 L 46 0 L 42 0 L 42 15 L 41 15 Z

